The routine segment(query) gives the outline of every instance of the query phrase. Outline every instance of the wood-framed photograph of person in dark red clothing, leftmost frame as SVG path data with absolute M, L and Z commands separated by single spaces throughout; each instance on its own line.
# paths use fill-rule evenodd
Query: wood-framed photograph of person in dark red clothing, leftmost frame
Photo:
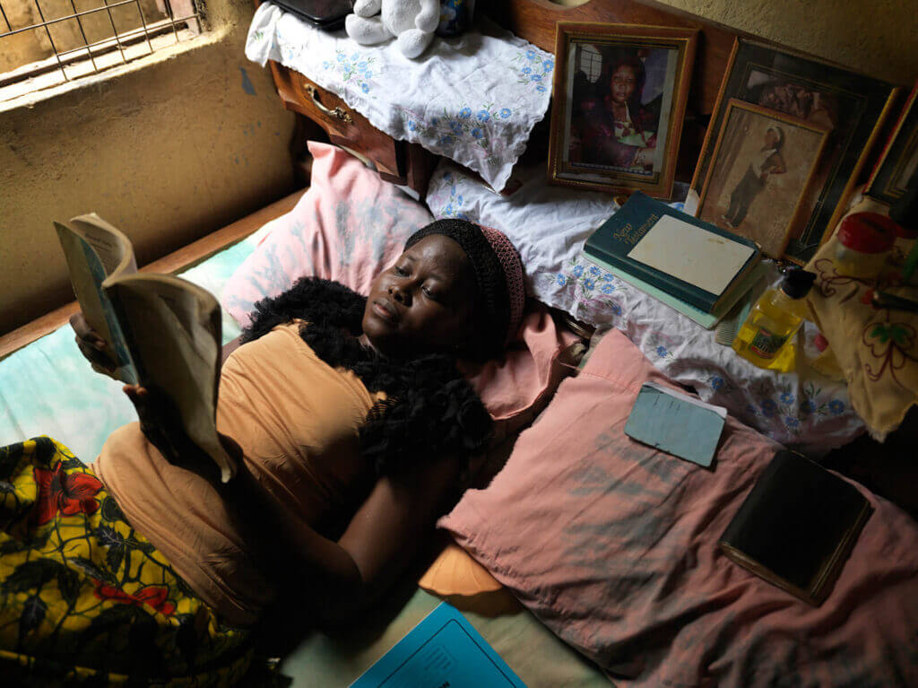
M 558 22 L 553 184 L 668 198 L 698 31 Z

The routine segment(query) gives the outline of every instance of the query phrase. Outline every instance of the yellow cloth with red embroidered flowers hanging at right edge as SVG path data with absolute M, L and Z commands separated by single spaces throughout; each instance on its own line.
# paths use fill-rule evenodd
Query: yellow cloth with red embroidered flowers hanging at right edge
M 879 288 L 914 300 L 918 288 L 899 284 L 894 265 L 879 281 L 840 273 L 838 246 L 833 236 L 807 264 L 816 273 L 807 300 L 845 374 L 852 407 L 882 441 L 918 403 L 918 313 L 877 309 L 871 299 Z

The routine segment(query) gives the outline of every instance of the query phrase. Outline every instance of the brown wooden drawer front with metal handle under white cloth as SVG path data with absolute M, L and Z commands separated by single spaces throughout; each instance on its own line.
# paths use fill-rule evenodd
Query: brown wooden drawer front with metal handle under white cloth
M 426 192 L 433 162 L 430 153 L 377 130 L 341 98 L 303 74 L 274 61 L 270 64 L 284 107 L 319 124 L 332 143 L 364 155 L 386 181 Z

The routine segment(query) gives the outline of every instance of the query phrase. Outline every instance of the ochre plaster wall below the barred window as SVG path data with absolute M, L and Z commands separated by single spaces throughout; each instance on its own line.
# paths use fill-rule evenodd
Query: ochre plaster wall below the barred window
M 95 210 L 143 265 L 293 190 L 294 118 L 243 54 L 253 4 L 208 11 L 194 47 L 0 104 L 0 333 L 73 299 L 52 220 Z

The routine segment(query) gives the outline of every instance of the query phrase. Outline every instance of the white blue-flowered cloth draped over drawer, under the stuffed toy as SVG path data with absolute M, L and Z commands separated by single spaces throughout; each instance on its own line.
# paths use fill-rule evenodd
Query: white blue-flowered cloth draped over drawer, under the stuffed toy
M 376 129 L 475 170 L 500 190 L 545 116 L 554 56 L 493 24 L 436 38 L 417 60 L 394 40 L 362 46 L 270 3 L 255 11 L 245 54 L 297 70 Z

